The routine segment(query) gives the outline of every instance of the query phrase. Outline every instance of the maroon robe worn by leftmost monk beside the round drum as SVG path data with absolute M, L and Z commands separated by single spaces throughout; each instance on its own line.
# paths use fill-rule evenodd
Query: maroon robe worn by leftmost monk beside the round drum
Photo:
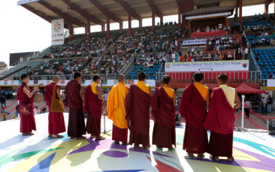
M 17 100 L 19 100 L 20 103 L 32 105 L 32 114 L 28 115 L 21 115 L 20 116 L 20 132 L 21 133 L 30 133 L 32 130 L 36 131 L 36 123 L 34 118 L 34 103 L 33 103 L 33 96 L 31 98 L 28 98 L 27 94 L 23 94 L 23 87 L 27 87 L 27 89 L 30 91 L 30 88 L 26 83 L 21 84 L 21 87 L 19 87 L 17 92 Z

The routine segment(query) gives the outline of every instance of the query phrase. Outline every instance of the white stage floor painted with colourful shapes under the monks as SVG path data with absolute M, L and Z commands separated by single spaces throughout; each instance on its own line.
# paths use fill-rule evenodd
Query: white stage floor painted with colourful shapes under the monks
M 65 114 L 66 125 L 67 120 Z M 236 161 L 230 164 L 212 162 L 208 154 L 204 160 L 186 158 L 184 123 L 176 129 L 177 152 L 157 153 L 155 146 L 145 151 L 116 145 L 110 136 L 99 142 L 71 140 L 66 133 L 62 139 L 49 139 L 47 114 L 36 116 L 34 136 L 22 136 L 19 122 L 0 122 L 0 171 L 275 171 L 275 136 L 259 131 L 234 132 Z M 107 131 L 111 126 L 107 120 Z

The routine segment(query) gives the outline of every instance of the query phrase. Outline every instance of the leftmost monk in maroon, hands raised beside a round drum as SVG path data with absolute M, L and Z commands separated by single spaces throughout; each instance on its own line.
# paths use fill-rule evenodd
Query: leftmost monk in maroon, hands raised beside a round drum
M 17 100 L 19 100 L 19 103 L 23 104 L 30 104 L 32 107 L 33 104 L 33 95 L 35 92 L 39 91 L 38 87 L 34 87 L 32 92 L 30 91 L 30 88 L 28 87 L 28 83 L 30 81 L 30 78 L 28 74 L 23 74 L 21 76 L 22 84 L 18 89 L 17 92 Z M 32 108 L 32 113 L 28 115 L 21 115 L 20 116 L 20 132 L 23 136 L 31 136 L 34 135 L 32 133 L 32 130 L 36 131 L 36 124 L 34 119 L 34 109 Z

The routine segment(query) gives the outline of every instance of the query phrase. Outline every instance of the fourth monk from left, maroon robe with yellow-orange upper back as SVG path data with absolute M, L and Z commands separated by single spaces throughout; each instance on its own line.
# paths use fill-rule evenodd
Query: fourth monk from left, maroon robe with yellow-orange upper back
M 102 116 L 102 100 L 103 95 L 99 86 L 100 76 L 94 75 L 94 83 L 85 89 L 85 110 L 87 111 L 87 133 L 91 134 L 90 139 L 104 140 L 100 136 L 100 125 Z

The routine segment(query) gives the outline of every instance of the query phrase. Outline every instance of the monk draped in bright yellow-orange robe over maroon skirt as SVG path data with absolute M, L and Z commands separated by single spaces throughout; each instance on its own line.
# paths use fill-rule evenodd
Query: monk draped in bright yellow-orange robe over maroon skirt
M 113 86 L 109 92 L 107 100 L 107 114 L 108 118 L 113 120 L 113 134 L 112 139 L 115 144 L 122 142 L 127 144 L 128 127 L 125 119 L 125 98 L 129 87 L 125 84 L 125 76 L 120 74 L 118 76 L 118 84 Z

